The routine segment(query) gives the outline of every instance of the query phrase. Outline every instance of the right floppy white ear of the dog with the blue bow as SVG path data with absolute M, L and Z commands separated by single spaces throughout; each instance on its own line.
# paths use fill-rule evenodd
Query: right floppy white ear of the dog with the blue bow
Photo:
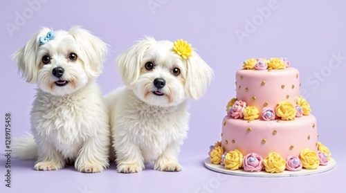
M 89 77 L 97 77 L 103 71 L 103 62 L 108 53 L 108 45 L 88 30 L 73 26 L 69 34 L 75 38 L 83 55 L 89 60 L 84 61 L 84 67 Z

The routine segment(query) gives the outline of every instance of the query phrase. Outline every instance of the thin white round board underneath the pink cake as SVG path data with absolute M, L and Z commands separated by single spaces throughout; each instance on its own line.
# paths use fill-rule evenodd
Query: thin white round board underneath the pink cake
M 215 172 L 220 172 L 223 174 L 230 174 L 230 175 L 235 175 L 235 176 L 248 176 L 248 177 L 291 177 L 291 176 L 307 176 L 311 174 L 319 174 L 322 172 L 327 172 L 330 169 L 333 169 L 336 166 L 336 161 L 331 158 L 328 161 L 328 165 L 320 165 L 318 166 L 317 169 L 302 169 L 300 171 L 292 172 L 292 171 L 287 171 L 284 170 L 284 172 L 281 173 L 268 173 L 265 171 L 261 172 L 245 172 L 243 169 L 238 169 L 238 170 L 230 170 L 230 169 L 225 169 L 223 165 L 216 165 L 210 163 L 210 158 L 206 158 L 204 160 L 204 165 L 208 168 L 211 169 Z

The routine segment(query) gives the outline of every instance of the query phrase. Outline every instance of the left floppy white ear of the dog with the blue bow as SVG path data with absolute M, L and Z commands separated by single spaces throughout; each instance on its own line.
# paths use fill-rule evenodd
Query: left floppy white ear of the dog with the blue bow
M 30 38 L 29 42 L 17 50 L 12 57 L 16 60 L 18 66 L 18 72 L 21 74 L 26 82 L 37 82 L 37 74 L 39 68 L 39 59 L 37 58 L 37 51 L 39 49 L 39 37 L 46 35 L 51 29 L 42 28 L 39 32 L 35 33 Z

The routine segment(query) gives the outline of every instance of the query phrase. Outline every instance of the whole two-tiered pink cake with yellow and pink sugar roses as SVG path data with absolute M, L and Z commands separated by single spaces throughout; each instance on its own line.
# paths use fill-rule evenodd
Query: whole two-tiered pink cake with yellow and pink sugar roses
M 327 165 L 329 149 L 318 142 L 299 71 L 286 58 L 248 59 L 235 76 L 236 97 L 227 104 L 221 142 L 210 147 L 211 163 L 271 173 Z

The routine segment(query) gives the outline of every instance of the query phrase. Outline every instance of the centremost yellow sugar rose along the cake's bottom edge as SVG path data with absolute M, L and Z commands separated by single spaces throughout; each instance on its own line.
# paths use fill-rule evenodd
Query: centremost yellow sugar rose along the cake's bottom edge
M 284 172 L 284 169 L 286 168 L 286 160 L 284 160 L 279 154 L 276 154 L 275 152 L 270 153 L 266 158 L 263 160 L 264 167 L 266 169 L 266 172 L 271 173 L 279 173 Z

